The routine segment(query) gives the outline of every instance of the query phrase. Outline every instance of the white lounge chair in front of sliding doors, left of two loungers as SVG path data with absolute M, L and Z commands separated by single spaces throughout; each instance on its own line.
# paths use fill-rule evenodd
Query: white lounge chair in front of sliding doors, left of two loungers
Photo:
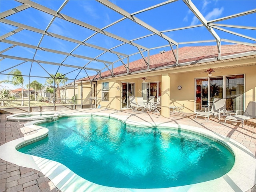
M 197 118 L 197 116 L 208 117 L 208 119 L 207 119 L 207 122 L 208 122 L 210 115 L 218 115 L 219 116 L 219 120 L 220 120 L 220 114 L 224 113 L 225 103 L 226 103 L 226 99 L 215 98 L 213 100 L 211 110 L 207 111 L 207 108 L 205 108 L 204 112 L 198 112 L 196 114 L 196 118 Z

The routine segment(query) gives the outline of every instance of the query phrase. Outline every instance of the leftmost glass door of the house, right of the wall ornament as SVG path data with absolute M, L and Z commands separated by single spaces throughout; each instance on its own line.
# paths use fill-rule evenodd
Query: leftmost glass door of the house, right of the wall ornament
M 129 107 L 129 96 L 135 96 L 135 85 L 134 83 L 122 82 L 122 100 L 121 108 Z

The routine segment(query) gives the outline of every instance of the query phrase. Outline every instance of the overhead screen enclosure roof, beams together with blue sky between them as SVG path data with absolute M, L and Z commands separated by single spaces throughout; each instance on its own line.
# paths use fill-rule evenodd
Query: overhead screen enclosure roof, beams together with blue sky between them
M 178 49 L 194 44 L 216 46 L 221 60 L 221 44 L 256 46 L 256 4 L 229 2 L 210 20 L 201 5 L 210 1 L 203 0 L 2 0 L 0 74 L 20 68 L 35 78 L 60 72 L 70 80 L 94 80 L 106 70 L 114 76 L 120 65 L 129 74 L 129 63 L 141 58 L 149 70 L 149 56 L 163 50 L 176 60 L 170 68 L 179 67 Z M 253 9 L 244 10 L 246 3 Z

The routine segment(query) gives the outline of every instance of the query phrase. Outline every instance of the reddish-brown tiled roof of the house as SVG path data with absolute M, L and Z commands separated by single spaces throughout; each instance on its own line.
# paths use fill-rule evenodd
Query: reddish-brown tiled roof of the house
M 235 45 L 222 45 L 221 46 L 221 56 L 244 53 L 249 51 L 256 51 L 256 47 L 254 46 L 247 46 L 241 44 Z M 176 50 L 174 50 L 176 53 Z M 218 49 L 217 46 L 189 46 L 189 47 L 182 47 L 178 49 L 178 58 L 179 63 L 185 62 L 193 62 L 199 61 L 206 58 L 216 58 L 218 57 Z M 148 58 L 145 58 L 148 60 Z M 174 55 L 172 51 L 167 51 L 162 54 L 155 54 L 150 56 L 150 68 L 162 67 L 162 66 L 169 66 L 176 64 Z M 147 66 L 143 59 L 139 59 L 129 63 L 129 72 L 135 72 L 139 70 L 146 70 Z M 122 66 L 118 66 L 114 68 L 114 76 L 118 74 L 125 74 L 126 68 Z M 102 77 L 111 76 L 110 71 L 102 72 Z M 91 78 L 91 77 L 90 77 Z M 99 78 L 99 75 L 96 77 Z M 82 80 L 88 80 L 88 78 L 82 78 Z

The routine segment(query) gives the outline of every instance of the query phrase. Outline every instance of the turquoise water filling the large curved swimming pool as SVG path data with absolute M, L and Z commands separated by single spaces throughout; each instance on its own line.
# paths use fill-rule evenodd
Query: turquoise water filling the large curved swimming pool
M 64 117 L 39 124 L 48 137 L 19 151 L 60 162 L 96 184 L 166 188 L 226 174 L 234 156 L 224 146 L 189 132 L 128 126 L 102 116 Z

